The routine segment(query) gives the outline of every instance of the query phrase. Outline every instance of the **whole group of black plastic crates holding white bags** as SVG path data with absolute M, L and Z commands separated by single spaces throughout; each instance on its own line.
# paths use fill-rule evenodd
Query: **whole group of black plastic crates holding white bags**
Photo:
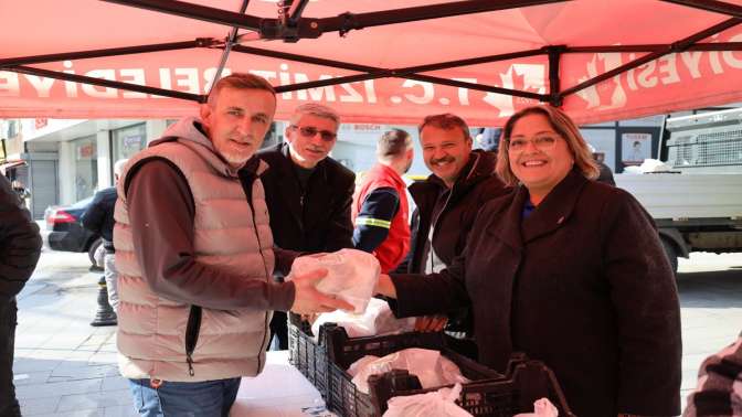
M 549 398 L 560 416 L 573 416 L 551 372 L 538 361 L 515 354 L 506 374 L 500 374 L 451 351 L 443 333 L 411 332 L 384 336 L 348 338 L 346 330 L 328 323 L 315 342 L 308 324 L 289 320 L 289 360 L 325 398 L 327 408 L 343 417 L 377 417 L 395 396 L 424 394 L 420 381 L 404 370 L 369 377 L 369 394 L 357 389 L 348 367 L 365 355 L 384 356 L 409 349 L 441 351 L 471 382 L 463 385 L 457 404 L 477 417 L 510 417 L 532 413 L 533 402 Z M 321 357 L 320 357 L 321 356 Z

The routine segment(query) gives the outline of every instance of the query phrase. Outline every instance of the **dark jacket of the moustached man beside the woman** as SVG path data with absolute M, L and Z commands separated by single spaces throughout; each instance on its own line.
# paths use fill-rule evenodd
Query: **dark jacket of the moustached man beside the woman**
M 454 184 L 446 205 L 437 217 L 433 234 L 435 253 L 446 265 L 462 254 L 477 212 L 485 202 L 508 192 L 495 173 L 496 153 L 471 151 L 469 162 Z M 426 240 L 433 222 L 433 209 L 445 184 L 435 175 L 410 185 L 417 209 L 412 218 L 412 238 L 407 271 L 422 274 L 427 257 Z

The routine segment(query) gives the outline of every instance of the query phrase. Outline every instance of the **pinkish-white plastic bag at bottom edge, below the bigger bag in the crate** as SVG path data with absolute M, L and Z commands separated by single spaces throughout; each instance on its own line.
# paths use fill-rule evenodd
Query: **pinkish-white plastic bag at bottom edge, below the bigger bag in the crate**
M 392 397 L 383 417 L 471 417 L 455 403 L 460 393 L 462 384 L 456 384 L 433 393 Z

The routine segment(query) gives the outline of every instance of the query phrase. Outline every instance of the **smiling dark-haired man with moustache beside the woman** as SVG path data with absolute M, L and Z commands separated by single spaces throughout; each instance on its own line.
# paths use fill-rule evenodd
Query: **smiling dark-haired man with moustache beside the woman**
M 462 254 L 469 228 L 486 201 L 502 195 L 506 189 L 495 174 L 496 154 L 471 150 L 469 128 L 460 117 L 444 114 L 426 117 L 420 125 L 420 142 L 425 165 L 433 172 L 427 180 L 410 185 L 417 210 L 407 271 L 431 274 L 445 269 Z M 452 331 L 468 330 L 466 313 L 453 314 Z M 438 330 L 445 318 L 418 320 L 421 330 Z M 474 349 L 474 344 L 467 344 Z M 462 352 L 474 355 L 462 346 Z

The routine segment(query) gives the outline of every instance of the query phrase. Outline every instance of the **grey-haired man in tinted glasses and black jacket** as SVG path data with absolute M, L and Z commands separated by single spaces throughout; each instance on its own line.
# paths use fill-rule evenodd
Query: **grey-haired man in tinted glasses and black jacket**
M 298 106 L 286 142 L 258 152 L 268 163 L 261 177 L 275 244 L 284 249 L 321 253 L 353 247 L 350 207 L 356 174 L 329 157 L 340 117 L 319 104 Z M 277 275 L 276 278 L 283 278 Z M 271 331 L 288 349 L 287 318 L 276 312 Z

